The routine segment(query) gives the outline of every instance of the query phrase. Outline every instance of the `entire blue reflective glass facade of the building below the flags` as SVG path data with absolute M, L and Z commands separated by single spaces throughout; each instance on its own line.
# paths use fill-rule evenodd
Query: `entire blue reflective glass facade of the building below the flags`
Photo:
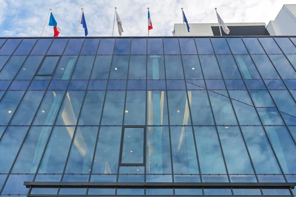
M 296 195 L 293 40 L 0 38 L 1 197 Z

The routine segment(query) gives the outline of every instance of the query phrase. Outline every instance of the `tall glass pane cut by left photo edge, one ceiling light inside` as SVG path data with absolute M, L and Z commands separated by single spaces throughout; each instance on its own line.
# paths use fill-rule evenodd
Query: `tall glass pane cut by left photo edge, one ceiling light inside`
M 0 125 L 7 125 L 24 91 L 7 91 L 0 102 Z

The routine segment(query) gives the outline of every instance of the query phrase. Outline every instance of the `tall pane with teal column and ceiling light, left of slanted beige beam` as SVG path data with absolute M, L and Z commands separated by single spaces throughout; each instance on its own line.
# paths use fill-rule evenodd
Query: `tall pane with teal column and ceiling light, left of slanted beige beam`
M 47 91 L 33 125 L 53 125 L 65 91 Z

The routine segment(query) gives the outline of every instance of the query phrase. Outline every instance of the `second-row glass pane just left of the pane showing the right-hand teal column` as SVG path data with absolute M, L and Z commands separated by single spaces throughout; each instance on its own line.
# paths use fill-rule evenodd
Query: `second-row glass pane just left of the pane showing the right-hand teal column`
M 224 79 L 241 79 L 241 75 L 231 55 L 217 55 Z

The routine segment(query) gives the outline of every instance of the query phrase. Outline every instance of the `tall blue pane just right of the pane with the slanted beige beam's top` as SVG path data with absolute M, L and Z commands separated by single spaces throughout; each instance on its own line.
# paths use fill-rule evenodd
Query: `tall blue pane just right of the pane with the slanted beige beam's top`
M 78 125 L 99 125 L 105 91 L 87 91 Z

